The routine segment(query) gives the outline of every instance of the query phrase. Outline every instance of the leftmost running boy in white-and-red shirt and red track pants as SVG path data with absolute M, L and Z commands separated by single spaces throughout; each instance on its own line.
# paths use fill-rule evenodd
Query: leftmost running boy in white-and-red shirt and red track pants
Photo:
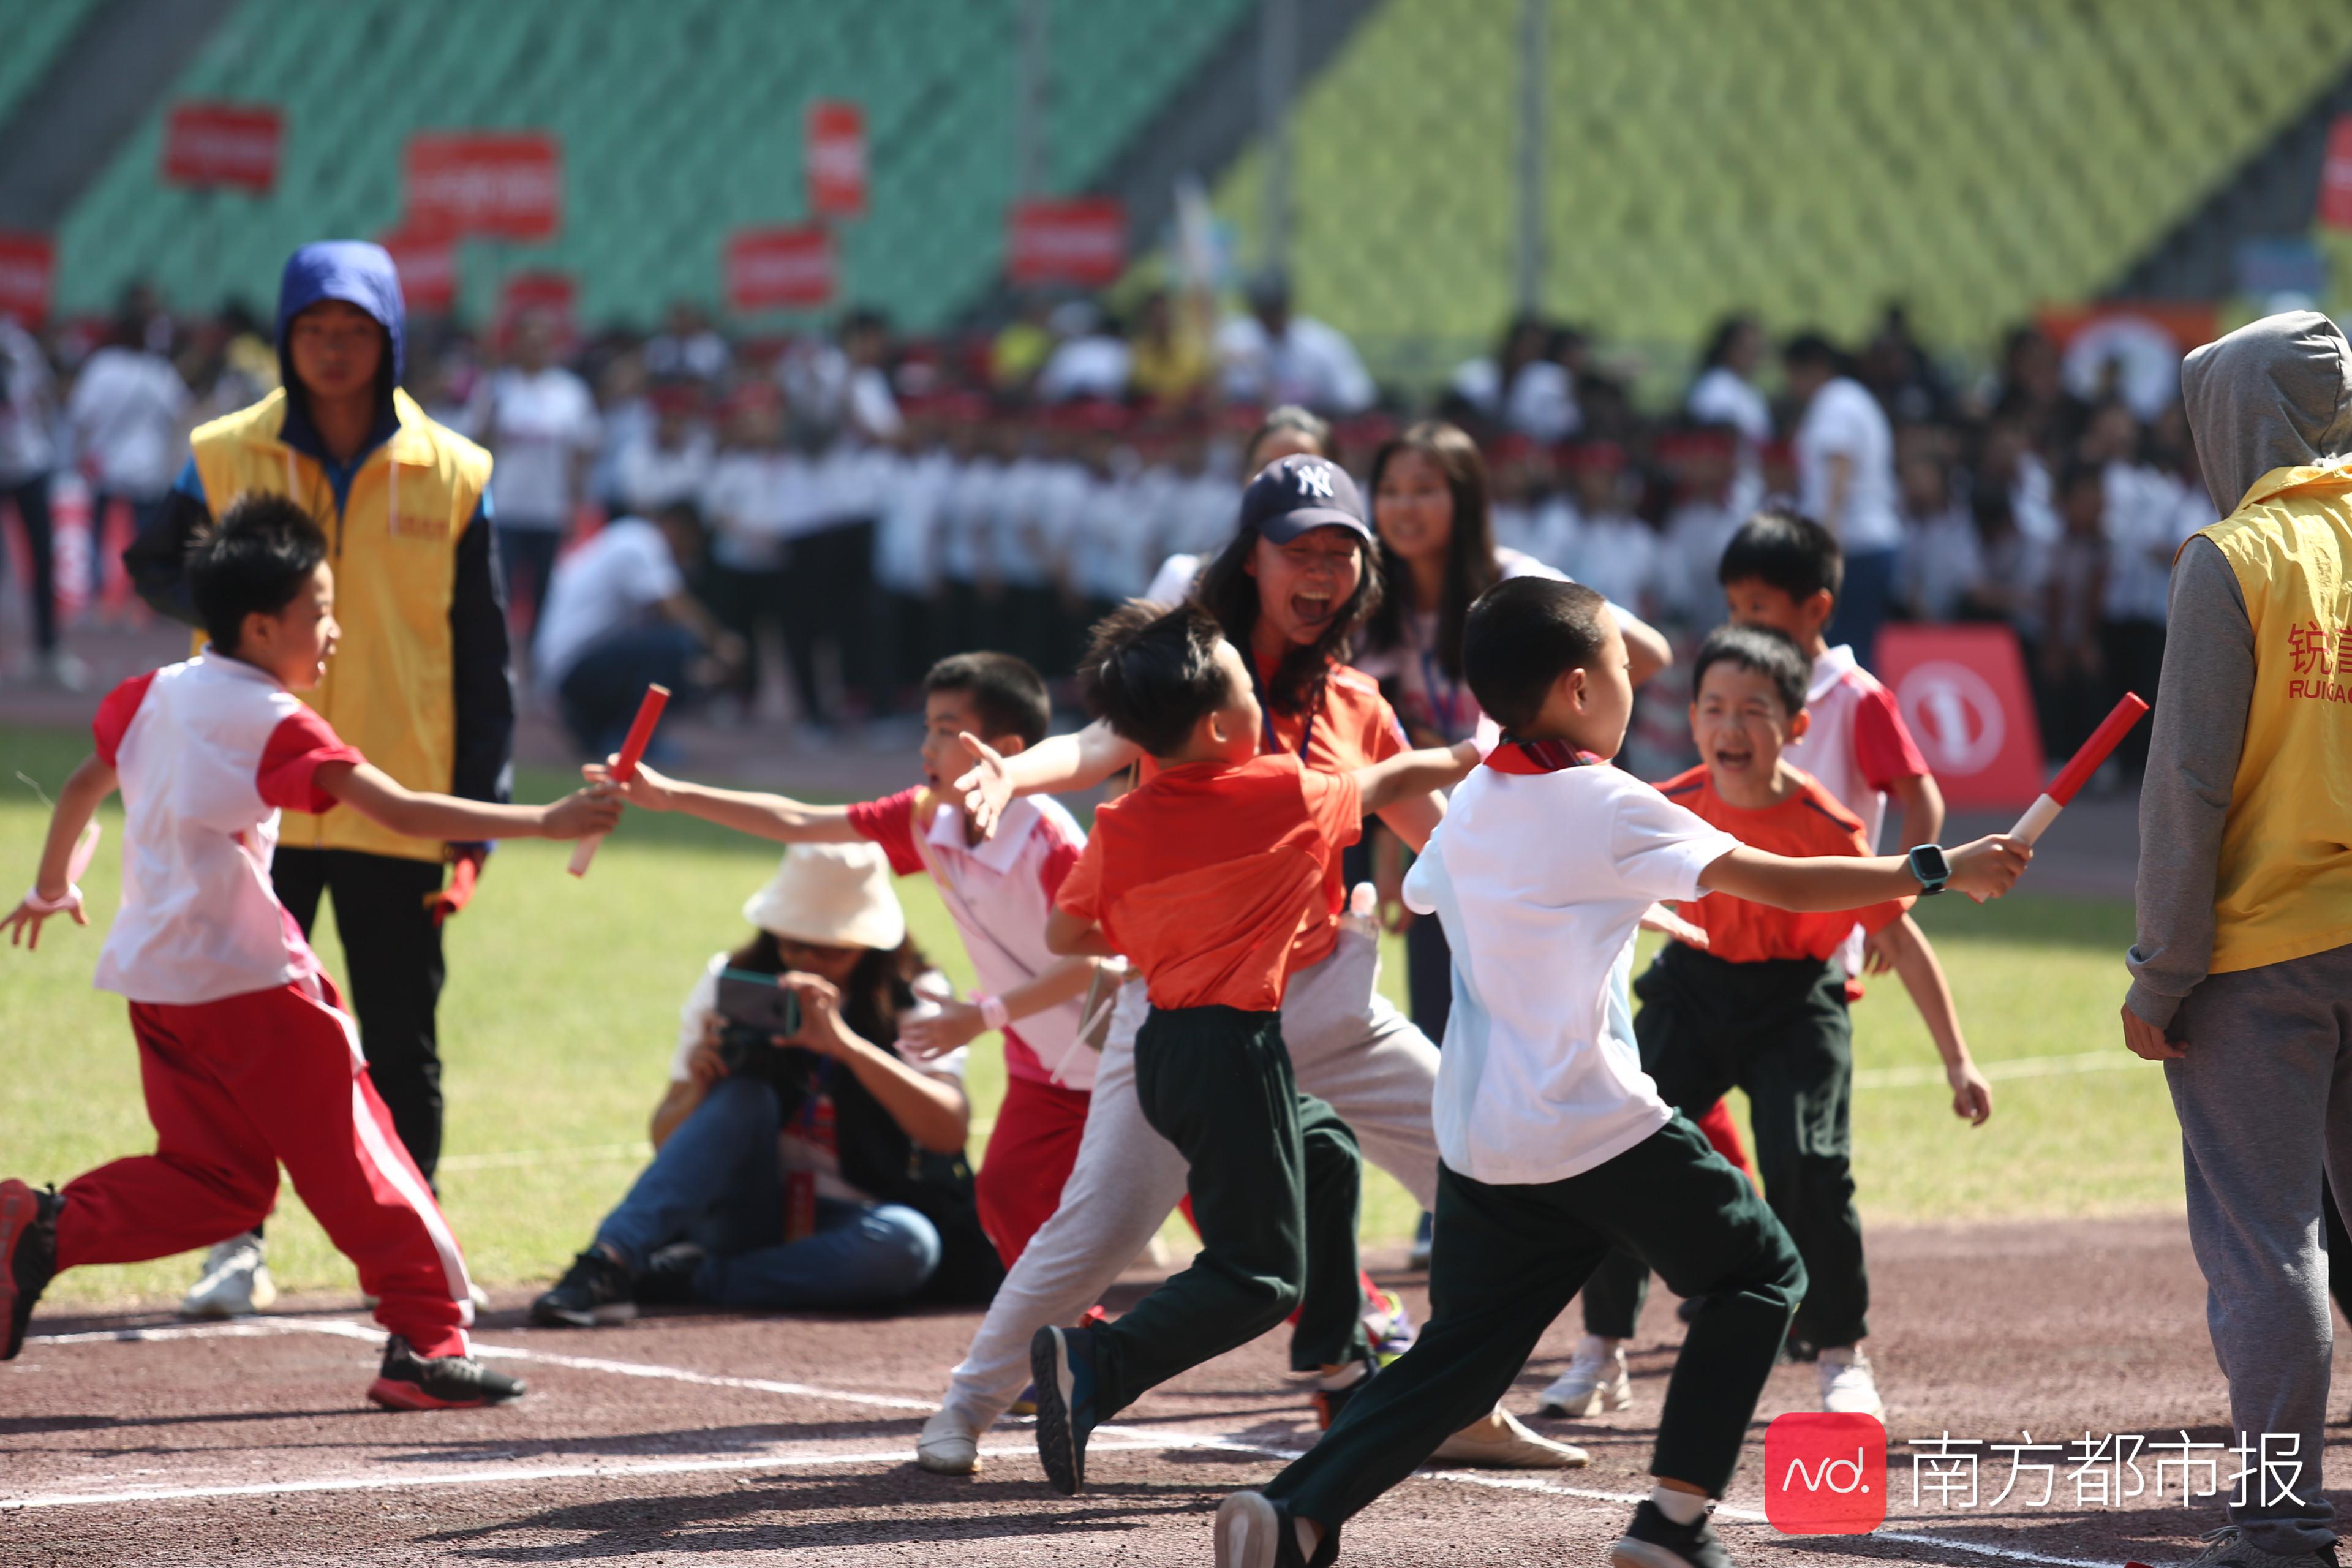
M 132 1004 L 155 1152 L 64 1192 L 0 1180 L 0 1361 L 61 1269 L 252 1229 L 285 1164 L 390 1331 L 367 1396 L 395 1410 L 506 1403 L 522 1382 L 473 1359 L 466 1260 L 376 1098 L 358 1025 L 270 889 L 278 813 L 346 806 L 426 839 L 576 839 L 609 832 L 621 802 L 426 795 L 343 745 L 294 696 L 318 686 L 336 623 L 327 536 L 287 498 L 230 505 L 195 545 L 188 585 L 212 642 L 99 705 L 96 752 L 66 780 L 33 891 L 0 919 L 12 945 L 38 945 L 52 914 L 89 924 L 75 846 L 120 788 L 122 907 L 99 987 Z

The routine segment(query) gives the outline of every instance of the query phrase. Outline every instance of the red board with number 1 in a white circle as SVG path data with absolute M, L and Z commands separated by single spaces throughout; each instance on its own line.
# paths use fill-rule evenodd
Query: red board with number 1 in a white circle
M 1889 625 L 1877 675 L 1919 743 L 1943 799 L 2006 811 L 2042 795 L 2042 731 L 2025 656 L 2006 625 Z

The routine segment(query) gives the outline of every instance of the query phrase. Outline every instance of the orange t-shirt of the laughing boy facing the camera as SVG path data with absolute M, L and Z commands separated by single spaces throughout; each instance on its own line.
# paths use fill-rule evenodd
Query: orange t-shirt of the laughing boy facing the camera
M 1729 804 L 1715 792 L 1705 766 L 1677 773 L 1658 790 L 1708 825 L 1722 827 L 1740 844 L 1764 853 L 1867 856 L 1870 839 L 1863 835 L 1860 818 L 1837 804 L 1837 797 L 1823 790 L 1811 773 L 1799 769 L 1797 778 L 1802 785 L 1795 795 L 1762 811 Z M 1853 926 L 1877 931 L 1898 922 L 1910 907 L 1910 898 L 1896 898 L 1867 910 L 1797 914 L 1731 893 L 1708 893 L 1682 905 L 1682 917 L 1693 926 L 1705 926 L 1708 952 L 1715 957 L 1731 964 L 1764 964 L 1769 959 L 1828 959 L 1844 945 Z

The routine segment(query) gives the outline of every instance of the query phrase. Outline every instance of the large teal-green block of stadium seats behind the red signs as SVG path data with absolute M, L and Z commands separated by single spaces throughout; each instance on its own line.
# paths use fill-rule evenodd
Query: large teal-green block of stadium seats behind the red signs
M 1242 5 L 1051 0 L 1049 193 L 1084 188 Z M 473 127 L 560 134 L 567 216 L 550 244 L 468 244 L 466 306 L 522 268 L 569 270 L 590 320 L 715 306 L 724 235 L 804 216 L 802 106 L 833 96 L 863 106 L 873 172 L 868 216 L 842 233 L 844 296 L 934 329 L 1000 270 L 1016 19 L 1018 0 L 245 0 L 174 96 L 282 106 L 278 190 L 160 186 L 158 106 L 61 226 L 59 306 L 103 308 L 139 275 L 176 306 L 268 303 L 294 244 L 397 223 L 409 132 Z

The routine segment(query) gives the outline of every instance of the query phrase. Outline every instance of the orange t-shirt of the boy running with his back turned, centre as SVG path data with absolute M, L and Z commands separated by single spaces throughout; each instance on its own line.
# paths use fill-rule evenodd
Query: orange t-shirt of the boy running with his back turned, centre
M 1143 971 L 1152 1006 L 1272 1013 L 1291 971 L 1331 952 L 1324 879 L 1362 832 L 1352 773 L 1188 762 L 1094 813 L 1056 903 Z

